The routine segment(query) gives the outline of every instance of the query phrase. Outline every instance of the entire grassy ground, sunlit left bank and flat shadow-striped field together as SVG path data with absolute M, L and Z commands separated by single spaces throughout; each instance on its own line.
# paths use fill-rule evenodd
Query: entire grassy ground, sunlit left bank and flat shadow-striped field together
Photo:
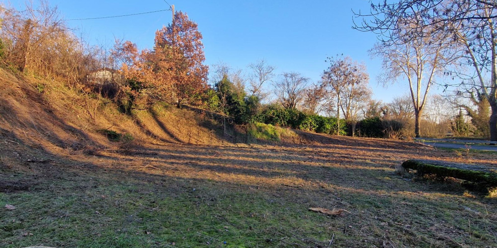
M 411 158 L 495 165 L 495 153 L 301 131 L 279 143 L 236 143 L 209 113 L 157 104 L 125 115 L 57 82 L 0 75 L 2 247 L 497 242 L 495 198 L 396 172 Z M 99 130 L 134 139 L 112 142 Z M 350 213 L 330 218 L 310 207 Z

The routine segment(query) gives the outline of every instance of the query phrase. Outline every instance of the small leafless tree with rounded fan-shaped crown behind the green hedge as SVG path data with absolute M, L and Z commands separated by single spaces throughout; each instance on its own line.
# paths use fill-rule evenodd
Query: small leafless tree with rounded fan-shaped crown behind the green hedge
M 278 102 L 287 109 L 295 109 L 302 101 L 309 78 L 297 72 L 285 72 L 283 78 L 276 82 L 274 91 Z

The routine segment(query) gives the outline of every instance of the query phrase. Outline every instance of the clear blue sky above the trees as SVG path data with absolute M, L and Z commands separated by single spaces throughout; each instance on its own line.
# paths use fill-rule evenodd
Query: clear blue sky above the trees
M 353 30 L 352 9 L 368 11 L 367 0 L 167 0 L 186 12 L 203 35 L 206 64 L 220 61 L 245 69 L 264 58 L 277 73 L 295 71 L 317 81 L 328 56 L 343 54 L 365 62 L 374 98 L 389 102 L 408 92 L 406 83 L 384 88 L 376 82 L 379 59 L 368 50 L 376 36 Z M 22 6 L 24 0 L 11 1 Z M 50 0 L 65 19 L 123 15 L 168 9 L 164 0 Z M 171 12 L 129 17 L 68 21 L 94 45 L 111 46 L 116 38 L 152 48 L 155 31 L 167 25 Z

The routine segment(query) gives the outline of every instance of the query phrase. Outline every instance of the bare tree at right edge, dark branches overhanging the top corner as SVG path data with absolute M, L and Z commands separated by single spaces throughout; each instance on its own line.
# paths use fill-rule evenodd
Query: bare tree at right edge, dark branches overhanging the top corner
M 497 141 L 497 1 L 496 0 L 398 0 L 371 4 L 367 14 L 356 13 L 361 22 L 354 27 L 372 31 L 382 41 L 411 40 L 445 34 L 464 48 L 463 63 L 474 73 L 456 74 L 483 92 L 492 114 L 489 119 L 491 140 Z M 398 32 L 399 24 L 414 18 L 416 26 Z M 424 32 L 425 30 L 429 32 Z M 490 78 L 490 80 L 487 80 Z

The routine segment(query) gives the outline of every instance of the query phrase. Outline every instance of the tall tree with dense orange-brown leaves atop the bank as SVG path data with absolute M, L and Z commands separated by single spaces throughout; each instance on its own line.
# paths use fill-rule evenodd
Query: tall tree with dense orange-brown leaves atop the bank
M 171 24 L 156 32 L 154 70 L 170 78 L 178 108 L 207 87 L 208 66 L 203 64 L 205 56 L 201 40 L 197 24 L 181 11 L 174 13 Z

